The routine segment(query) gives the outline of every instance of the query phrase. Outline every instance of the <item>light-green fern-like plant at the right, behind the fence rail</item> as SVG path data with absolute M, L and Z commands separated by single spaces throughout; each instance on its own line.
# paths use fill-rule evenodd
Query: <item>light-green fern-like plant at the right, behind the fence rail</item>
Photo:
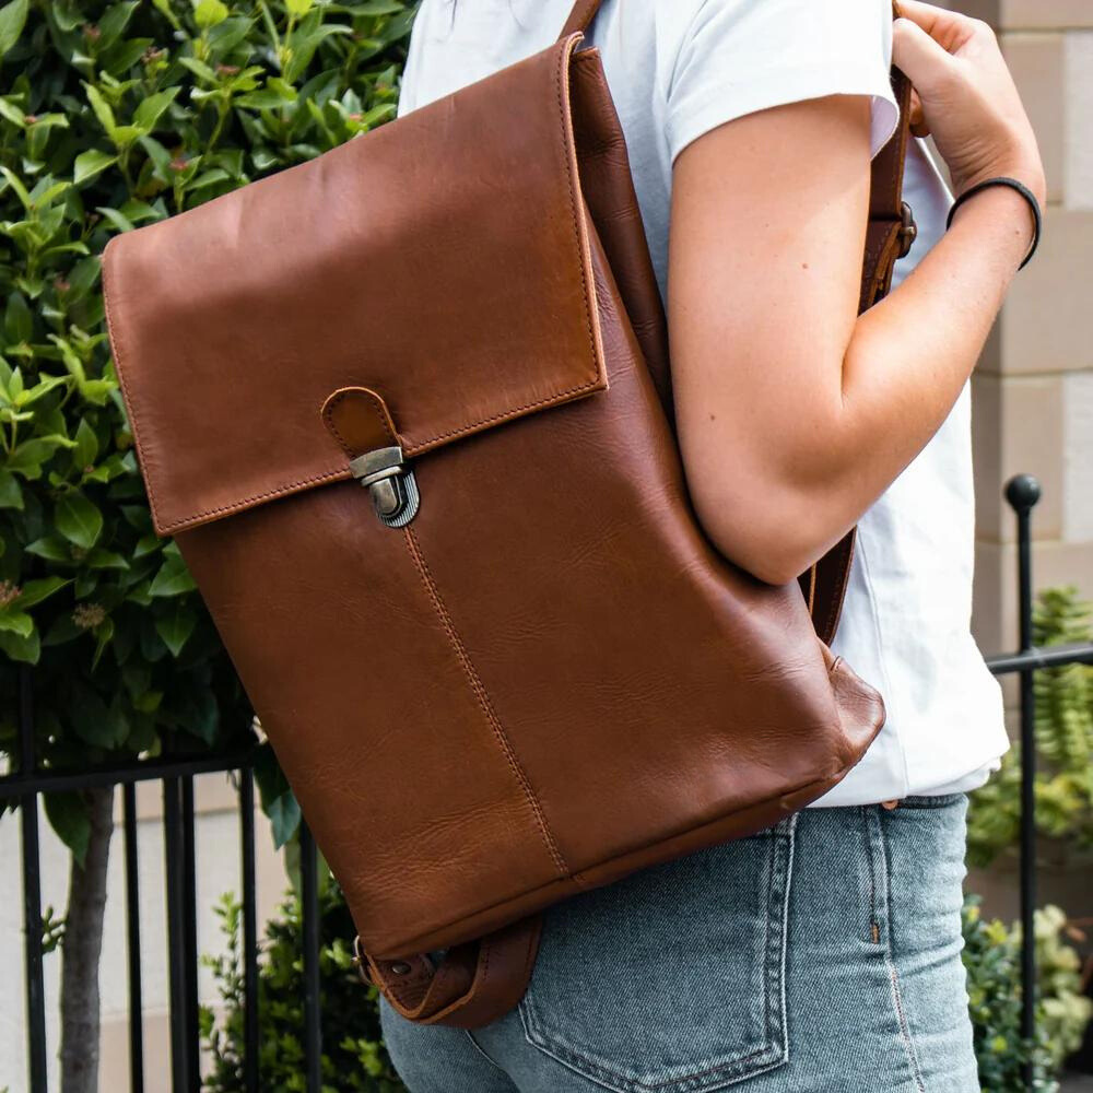
M 1093 643 L 1093 604 L 1073 587 L 1053 588 L 1037 599 L 1033 640 L 1039 647 Z M 1036 827 L 1079 851 L 1093 849 L 1093 667 L 1042 669 L 1036 703 Z M 990 865 L 1016 845 L 1021 828 L 1021 745 L 972 795 L 968 861 Z

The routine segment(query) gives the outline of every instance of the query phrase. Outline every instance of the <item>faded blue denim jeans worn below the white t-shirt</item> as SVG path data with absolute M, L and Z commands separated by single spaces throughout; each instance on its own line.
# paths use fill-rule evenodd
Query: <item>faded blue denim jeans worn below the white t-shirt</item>
M 972 1093 L 963 795 L 808 809 L 546 913 L 519 1008 L 384 1004 L 412 1093 Z

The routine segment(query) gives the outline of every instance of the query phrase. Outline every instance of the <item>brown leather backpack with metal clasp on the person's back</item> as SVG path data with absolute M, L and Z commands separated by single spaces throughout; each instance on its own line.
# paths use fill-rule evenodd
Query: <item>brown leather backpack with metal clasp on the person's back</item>
M 539 910 L 802 808 L 884 719 L 825 644 L 853 532 L 774 587 L 695 520 L 598 2 L 104 259 L 155 527 L 418 1021 L 504 1013 Z M 894 80 L 862 308 L 913 234 Z

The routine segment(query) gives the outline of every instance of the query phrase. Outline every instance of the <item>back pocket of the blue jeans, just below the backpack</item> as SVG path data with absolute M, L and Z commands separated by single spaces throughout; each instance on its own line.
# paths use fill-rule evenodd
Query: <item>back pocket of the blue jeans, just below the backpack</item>
M 704 1093 L 780 1066 L 796 816 L 552 907 L 529 1043 L 619 1093 Z

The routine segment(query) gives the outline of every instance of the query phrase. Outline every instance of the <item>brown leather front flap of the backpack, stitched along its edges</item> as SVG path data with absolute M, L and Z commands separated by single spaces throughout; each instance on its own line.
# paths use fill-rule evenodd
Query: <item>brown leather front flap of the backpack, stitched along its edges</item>
M 104 256 L 156 530 L 350 477 L 320 411 L 409 456 L 607 386 L 557 46 Z

